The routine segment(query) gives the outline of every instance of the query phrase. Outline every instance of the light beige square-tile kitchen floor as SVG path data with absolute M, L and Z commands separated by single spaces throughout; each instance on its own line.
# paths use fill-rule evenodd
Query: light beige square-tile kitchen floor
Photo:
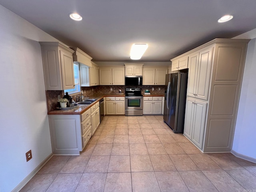
M 53 156 L 22 192 L 256 192 L 256 164 L 202 154 L 163 116 L 106 116 L 80 156 Z

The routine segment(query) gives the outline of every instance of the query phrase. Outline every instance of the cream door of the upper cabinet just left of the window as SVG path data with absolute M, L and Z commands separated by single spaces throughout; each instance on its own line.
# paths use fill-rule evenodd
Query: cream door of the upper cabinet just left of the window
M 75 86 L 73 55 L 60 50 L 60 62 L 63 90 L 73 89 Z

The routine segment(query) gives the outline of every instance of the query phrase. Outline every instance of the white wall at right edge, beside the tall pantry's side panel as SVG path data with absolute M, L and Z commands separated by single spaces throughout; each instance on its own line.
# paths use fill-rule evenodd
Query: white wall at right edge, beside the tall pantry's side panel
M 247 48 L 232 150 L 256 160 L 256 29 L 236 38 L 252 40 Z

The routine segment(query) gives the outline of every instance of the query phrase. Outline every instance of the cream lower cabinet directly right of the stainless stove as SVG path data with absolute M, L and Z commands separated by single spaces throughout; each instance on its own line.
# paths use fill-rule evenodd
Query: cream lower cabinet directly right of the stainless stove
M 143 114 L 162 114 L 162 97 L 143 97 Z

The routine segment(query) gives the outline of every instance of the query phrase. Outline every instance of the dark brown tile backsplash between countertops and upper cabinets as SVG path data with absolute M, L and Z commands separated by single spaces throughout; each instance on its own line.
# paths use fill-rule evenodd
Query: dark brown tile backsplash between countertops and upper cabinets
M 130 88 L 131 86 L 124 85 L 112 85 L 112 86 L 92 86 L 92 87 L 82 87 L 83 95 L 90 97 L 92 94 L 118 94 L 119 89 L 122 90 L 122 93 L 125 93 L 125 88 Z M 160 86 L 151 86 L 151 85 L 142 85 L 136 86 L 136 88 L 141 89 L 141 93 L 143 94 L 146 89 L 150 90 L 151 94 L 161 94 L 164 95 L 164 85 Z M 112 90 L 110 90 L 112 88 Z M 152 90 L 154 88 L 154 91 Z M 158 90 L 160 88 L 160 90 Z M 58 105 L 58 95 L 62 98 L 64 96 L 63 90 L 54 90 L 54 91 L 46 91 L 46 100 L 47 100 L 47 110 L 52 111 L 56 109 Z M 78 94 L 77 94 L 78 95 Z M 76 98 L 77 95 L 73 95 L 73 99 Z

